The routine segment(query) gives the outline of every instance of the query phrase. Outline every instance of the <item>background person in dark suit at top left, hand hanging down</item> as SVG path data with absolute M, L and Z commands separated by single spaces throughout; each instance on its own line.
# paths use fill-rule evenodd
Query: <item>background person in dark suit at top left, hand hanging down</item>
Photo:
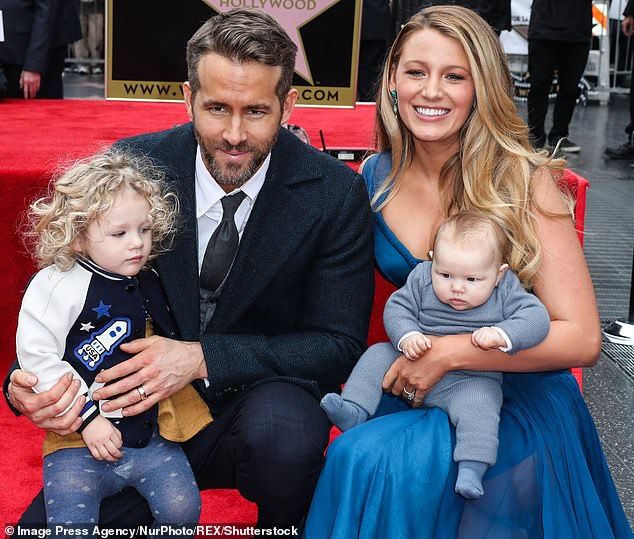
M 66 46 L 81 38 L 77 0 L 0 0 L 7 96 L 62 99 Z

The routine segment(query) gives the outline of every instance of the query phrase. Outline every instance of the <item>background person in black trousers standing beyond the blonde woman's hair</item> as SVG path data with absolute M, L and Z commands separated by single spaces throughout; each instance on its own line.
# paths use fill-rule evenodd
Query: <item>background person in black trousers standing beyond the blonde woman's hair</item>
M 568 127 L 579 97 L 592 39 L 592 0 L 534 0 L 528 25 L 528 127 L 536 148 L 579 152 Z M 553 126 L 546 137 L 548 94 L 557 70 Z M 560 142 L 561 141 L 561 142 Z

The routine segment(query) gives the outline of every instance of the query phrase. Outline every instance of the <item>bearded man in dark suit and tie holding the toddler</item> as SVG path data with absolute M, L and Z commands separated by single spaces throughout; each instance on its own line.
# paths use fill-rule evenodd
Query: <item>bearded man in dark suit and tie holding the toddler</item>
M 93 395 L 119 395 L 103 409 L 133 415 L 193 381 L 214 416 L 184 445 L 199 487 L 238 488 L 261 527 L 297 524 L 308 509 L 330 430 L 319 399 L 363 351 L 372 303 L 361 178 L 280 129 L 297 99 L 295 54 L 264 13 L 216 15 L 187 46 L 192 123 L 117 143 L 163 165 L 179 196 L 182 227 L 157 270 L 184 342 L 126 345 L 136 355 L 101 373 L 118 381 Z M 231 237 L 239 248 L 218 277 Z M 42 428 L 76 430 L 81 401 L 55 417 L 76 392 L 70 381 L 34 395 L 32 378 L 11 375 L 11 403 Z M 36 498 L 23 521 L 42 516 Z M 104 501 L 101 520 L 150 516 L 124 492 Z

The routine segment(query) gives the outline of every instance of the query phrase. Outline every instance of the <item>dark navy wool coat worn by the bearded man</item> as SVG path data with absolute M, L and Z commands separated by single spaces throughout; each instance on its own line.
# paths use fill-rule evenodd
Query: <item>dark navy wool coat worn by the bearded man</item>
M 365 349 L 372 308 L 372 217 L 361 177 L 280 129 L 201 336 L 193 127 L 117 144 L 159 162 L 178 194 L 181 229 L 156 268 L 182 338 L 202 343 L 212 409 L 264 381 L 299 384 L 317 397 L 338 390 Z

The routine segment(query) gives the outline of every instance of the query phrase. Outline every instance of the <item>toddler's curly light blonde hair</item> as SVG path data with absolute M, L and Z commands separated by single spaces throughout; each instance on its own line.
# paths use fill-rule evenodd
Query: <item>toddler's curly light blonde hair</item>
M 68 271 L 90 223 L 109 211 L 117 195 L 129 187 L 150 205 L 152 260 L 171 247 L 177 226 L 178 199 L 167 192 L 164 177 L 148 158 L 122 150 L 75 163 L 51 181 L 47 196 L 30 205 L 24 231 L 27 248 L 40 268 L 54 264 Z

